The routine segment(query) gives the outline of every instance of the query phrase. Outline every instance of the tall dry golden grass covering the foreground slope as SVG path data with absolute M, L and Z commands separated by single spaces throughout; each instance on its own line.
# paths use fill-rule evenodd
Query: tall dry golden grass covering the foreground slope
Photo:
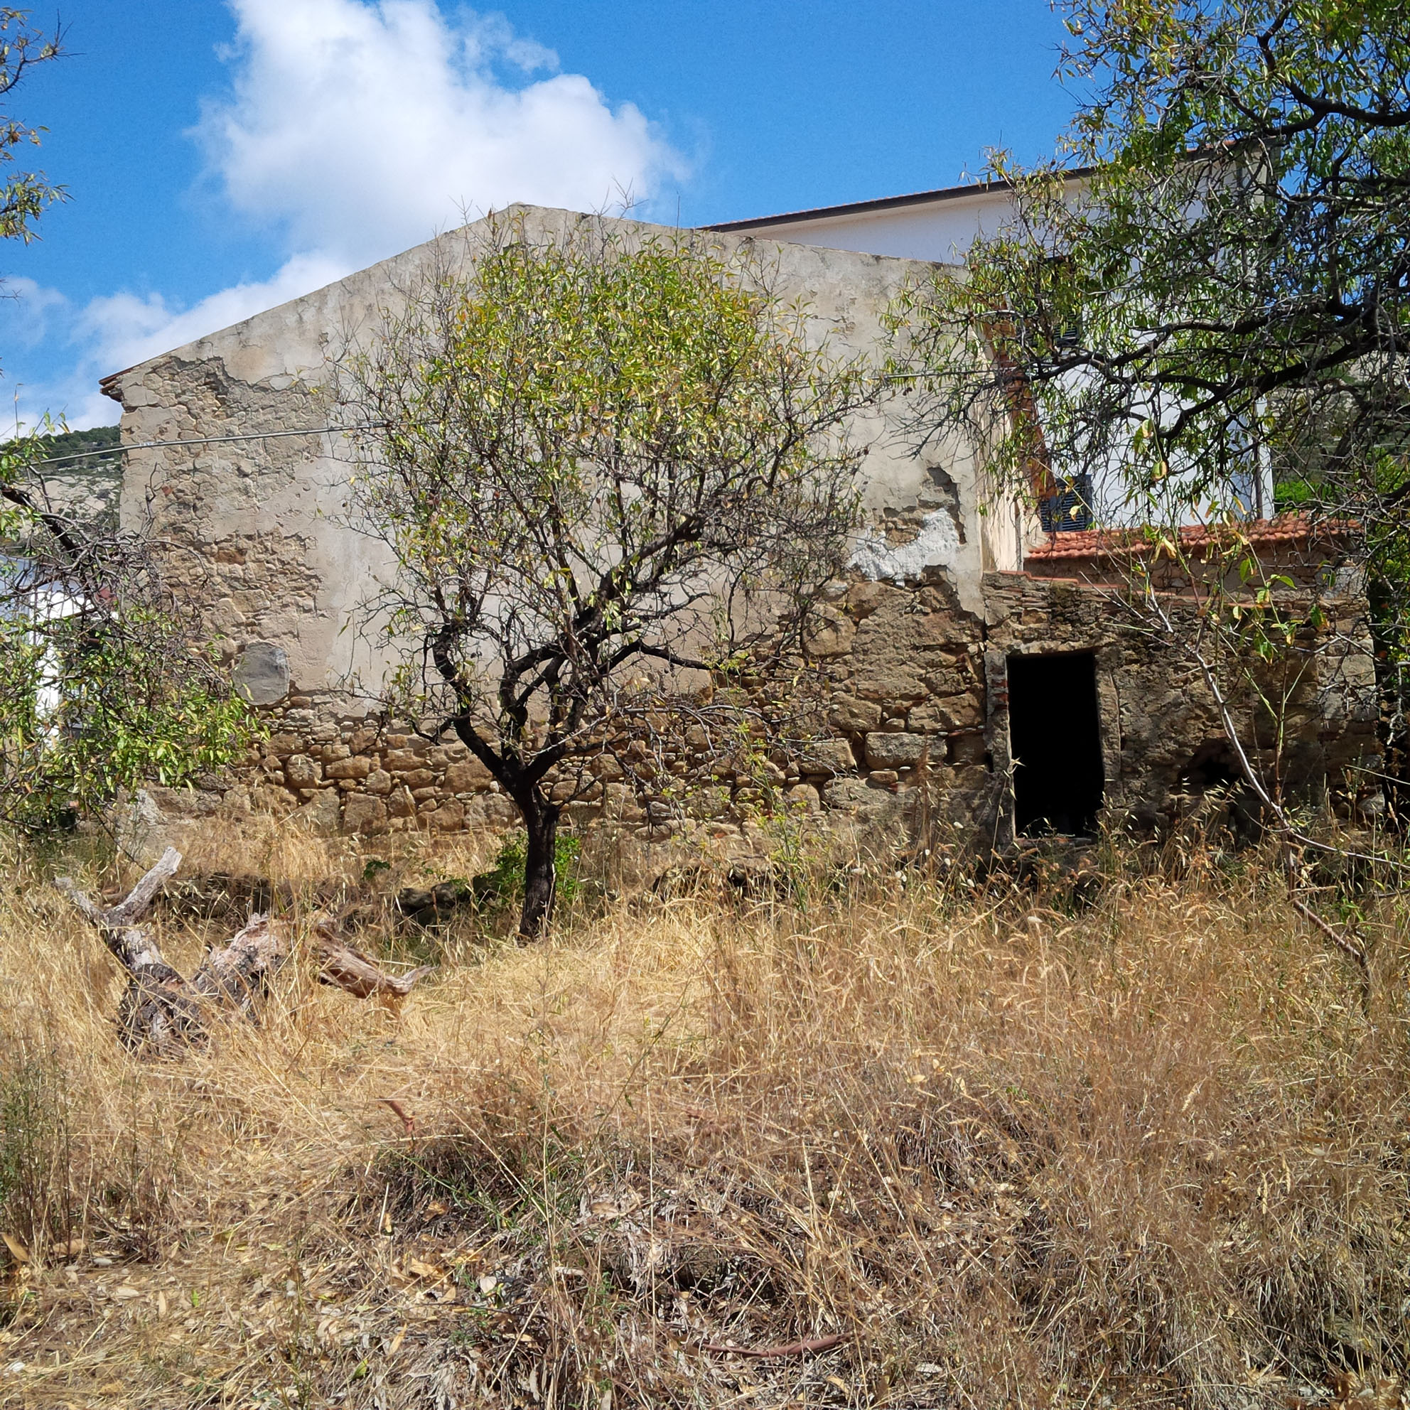
M 206 846 L 305 891 L 365 860 Z M 11 853 L 0 900 L 0 1098 L 39 1131 L 0 1404 L 1399 1399 L 1392 902 L 1369 1012 L 1256 867 L 1117 870 L 1081 911 L 877 877 L 461 935 L 399 1012 L 295 964 L 262 1029 L 161 1065 L 52 866 Z

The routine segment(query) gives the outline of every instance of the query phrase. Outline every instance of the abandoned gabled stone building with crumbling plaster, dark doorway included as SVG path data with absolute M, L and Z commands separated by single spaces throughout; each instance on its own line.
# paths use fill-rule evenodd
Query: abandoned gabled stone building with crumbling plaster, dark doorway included
M 925 261 L 962 261 L 1005 202 L 1000 186 L 966 186 L 742 221 L 704 238 L 767 247 L 778 292 L 805 300 L 839 351 L 874 355 L 901 283 Z M 520 214 L 543 233 L 589 219 Z M 455 240 L 104 379 L 134 447 L 124 520 L 149 516 L 188 550 L 173 561 L 197 565 L 183 581 L 204 596 L 237 678 L 271 723 L 244 776 L 166 795 L 162 807 L 298 811 L 327 829 L 369 833 L 515 819 L 464 746 L 422 739 L 376 712 L 386 661 L 350 623 L 388 564 L 343 522 L 348 464 L 338 437 L 319 431 L 330 350 L 372 324 Z M 921 451 L 885 406 L 853 434 L 867 446 L 867 527 L 812 642 L 832 682 L 835 737 L 790 766 L 794 802 L 880 825 L 914 815 L 924 794 L 926 816 L 1003 845 L 1035 828 L 1159 829 L 1191 794 L 1231 777 L 1197 663 L 1117 611 L 1110 544 L 1086 519 L 1045 529 L 1031 506 L 987 488 L 974 447 Z M 137 448 L 149 443 L 165 444 Z M 1351 812 L 1365 791 L 1358 768 L 1378 747 L 1363 594 L 1338 567 L 1338 544 L 1314 543 L 1306 526 L 1268 520 L 1249 536 L 1270 560 L 1313 564 L 1299 591 L 1321 598 L 1328 623 L 1328 644 L 1290 692 L 1280 767 Z M 1167 587 L 1175 618 L 1193 611 L 1179 584 Z M 1266 743 L 1252 715 L 1241 723 L 1255 746 Z M 577 812 L 643 822 L 640 799 L 611 770 Z M 728 805 L 715 825 L 730 830 Z

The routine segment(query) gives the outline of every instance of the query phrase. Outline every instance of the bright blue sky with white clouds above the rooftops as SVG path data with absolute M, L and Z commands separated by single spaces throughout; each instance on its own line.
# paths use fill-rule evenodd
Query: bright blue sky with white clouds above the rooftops
M 44 17 L 37 11 L 37 18 Z M 13 110 L 70 202 L 0 251 L 0 395 L 96 381 L 510 200 L 704 224 L 1053 151 L 1043 0 L 65 0 Z

